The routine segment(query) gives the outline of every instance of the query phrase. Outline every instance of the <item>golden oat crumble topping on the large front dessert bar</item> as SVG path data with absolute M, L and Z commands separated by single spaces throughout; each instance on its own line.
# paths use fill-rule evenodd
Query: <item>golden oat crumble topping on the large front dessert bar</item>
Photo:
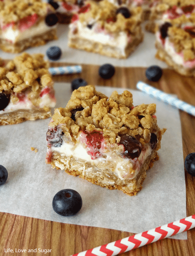
M 71 119 L 73 109 L 77 111 Z M 76 140 L 79 131 L 102 132 L 109 143 L 119 143 L 122 135 L 136 137 L 142 145 L 150 141 L 157 130 L 156 104 L 141 104 L 133 107 L 132 93 L 114 91 L 110 98 L 95 87 L 88 85 L 74 90 L 66 108 L 57 108 L 49 123 L 51 128 L 60 127 L 66 137 Z M 153 116 L 153 117 L 152 117 Z

